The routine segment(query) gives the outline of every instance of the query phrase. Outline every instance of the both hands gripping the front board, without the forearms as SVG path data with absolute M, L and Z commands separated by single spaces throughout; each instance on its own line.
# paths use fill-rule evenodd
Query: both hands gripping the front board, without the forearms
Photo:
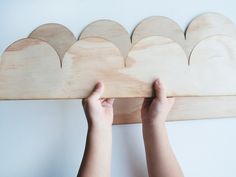
M 164 123 L 174 104 L 174 98 L 167 98 L 163 84 L 159 79 L 153 83 L 155 96 L 145 98 L 141 117 L 143 124 Z M 87 117 L 89 127 L 110 128 L 113 122 L 113 98 L 101 98 L 104 92 L 104 84 L 98 82 L 91 95 L 83 99 L 82 104 Z

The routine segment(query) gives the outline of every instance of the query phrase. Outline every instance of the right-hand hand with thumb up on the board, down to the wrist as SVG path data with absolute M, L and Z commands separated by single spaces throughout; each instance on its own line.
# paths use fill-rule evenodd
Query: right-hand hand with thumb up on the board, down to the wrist
M 167 98 L 163 84 L 159 79 L 154 81 L 154 98 L 145 98 L 141 118 L 143 124 L 163 123 L 174 104 L 174 98 Z

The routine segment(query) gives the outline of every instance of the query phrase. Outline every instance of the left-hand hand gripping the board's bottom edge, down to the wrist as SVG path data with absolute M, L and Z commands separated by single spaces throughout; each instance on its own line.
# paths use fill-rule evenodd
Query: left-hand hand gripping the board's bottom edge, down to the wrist
M 82 100 L 89 127 L 111 128 L 113 123 L 113 98 L 101 98 L 104 84 L 98 82 L 88 98 Z

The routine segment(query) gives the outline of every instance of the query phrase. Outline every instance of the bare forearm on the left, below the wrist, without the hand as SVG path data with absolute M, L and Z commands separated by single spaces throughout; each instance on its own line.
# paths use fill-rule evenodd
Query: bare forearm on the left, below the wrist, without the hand
M 111 151 L 112 128 L 89 128 L 78 177 L 109 177 Z

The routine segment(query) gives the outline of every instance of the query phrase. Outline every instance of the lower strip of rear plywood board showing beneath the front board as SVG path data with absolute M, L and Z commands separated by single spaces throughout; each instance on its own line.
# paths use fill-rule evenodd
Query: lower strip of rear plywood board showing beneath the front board
M 133 98 L 134 99 L 134 98 Z M 120 99 L 121 100 L 121 99 Z M 120 104 L 114 114 L 114 124 L 141 122 L 141 103 L 131 102 L 128 107 Z M 127 104 L 128 105 L 128 104 Z M 236 97 L 177 97 L 167 121 L 226 118 L 236 115 Z

